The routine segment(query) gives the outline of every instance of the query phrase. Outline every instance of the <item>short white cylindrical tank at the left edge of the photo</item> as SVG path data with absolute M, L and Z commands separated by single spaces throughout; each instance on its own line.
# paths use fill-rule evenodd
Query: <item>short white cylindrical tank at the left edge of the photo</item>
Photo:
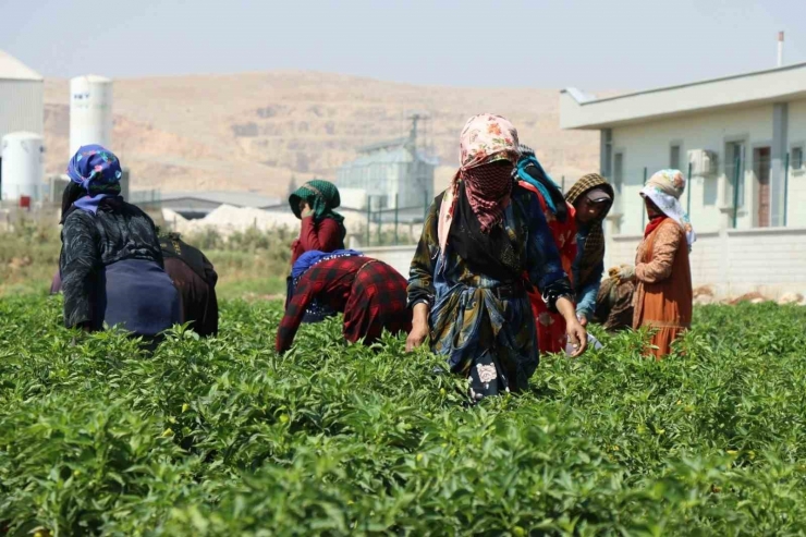
M 21 196 L 40 199 L 45 142 L 36 133 L 11 133 L 3 136 L 0 183 L 3 202 Z

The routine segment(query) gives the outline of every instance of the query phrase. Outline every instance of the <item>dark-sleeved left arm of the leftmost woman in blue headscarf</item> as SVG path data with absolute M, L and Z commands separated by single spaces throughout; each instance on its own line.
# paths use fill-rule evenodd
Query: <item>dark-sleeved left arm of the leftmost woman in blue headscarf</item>
M 59 259 L 65 327 L 86 326 L 95 318 L 93 297 L 100 264 L 93 217 L 84 211 L 73 212 L 62 229 Z

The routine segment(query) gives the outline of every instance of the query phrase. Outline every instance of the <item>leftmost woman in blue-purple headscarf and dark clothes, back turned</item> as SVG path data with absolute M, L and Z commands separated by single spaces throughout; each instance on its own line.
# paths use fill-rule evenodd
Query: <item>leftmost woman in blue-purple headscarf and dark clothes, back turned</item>
M 179 295 L 154 222 L 120 195 L 121 174 L 118 157 L 98 145 L 81 147 L 68 166 L 59 257 L 64 325 L 119 326 L 152 340 L 179 322 Z

